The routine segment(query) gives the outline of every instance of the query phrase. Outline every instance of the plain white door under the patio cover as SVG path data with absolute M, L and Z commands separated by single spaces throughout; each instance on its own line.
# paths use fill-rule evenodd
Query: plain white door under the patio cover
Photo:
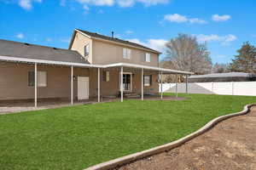
M 78 99 L 89 99 L 89 77 L 78 77 Z

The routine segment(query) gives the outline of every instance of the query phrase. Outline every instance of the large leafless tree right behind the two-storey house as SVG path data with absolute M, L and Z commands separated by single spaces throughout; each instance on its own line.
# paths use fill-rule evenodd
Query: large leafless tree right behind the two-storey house
M 164 61 L 172 62 L 176 69 L 207 74 L 212 71 L 212 59 L 206 43 L 199 43 L 196 37 L 178 34 L 166 43 Z

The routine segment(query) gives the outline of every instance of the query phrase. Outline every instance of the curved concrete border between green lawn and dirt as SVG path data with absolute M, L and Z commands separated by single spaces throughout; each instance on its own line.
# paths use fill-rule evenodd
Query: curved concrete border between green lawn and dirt
M 233 116 L 241 116 L 241 115 L 247 114 L 250 111 L 250 108 L 254 105 L 256 105 L 256 104 L 245 105 L 243 111 L 232 113 L 232 114 L 225 115 L 225 116 L 218 116 L 217 118 L 213 119 L 211 122 L 208 122 L 204 127 L 201 127 L 199 130 L 195 131 L 195 133 L 190 133 L 189 135 L 183 137 L 182 139 L 177 139 L 176 141 L 173 141 L 172 143 L 163 144 L 163 145 L 154 147 L 154 148 L 149 149 L 149 150 L 143 150 L 143 151 L 137 152 L 135 154 L 119 157 L 119 158 L 111 160 L 111 161 L 106 161 L 106 162 L 97 164 L 95 166 L 88 167 L 84 170 L 108 170 L 108 169 L 113 169 L 115 167 L 120 167 L 120 166 L 123 166 L 127 163 L 130 163 L 131 161 L 137 161 L 137 160 L 143 159 L 143 158 L 148 157 L 148 156 L 153 156 L 155 154 L 159 154 L 159 153 L 164 152 L 166 150 L 172 150 L 172 149 L 177 148 L 178 146 L 188 142 L 191 139 L 195 139 L 195 137 L 201 135 L 202 133 L 207 132 L 207 130 L 214 127 L 218 122 L 222 122 L 225 119 L 228 119 L 228 118 L 233 117 Z

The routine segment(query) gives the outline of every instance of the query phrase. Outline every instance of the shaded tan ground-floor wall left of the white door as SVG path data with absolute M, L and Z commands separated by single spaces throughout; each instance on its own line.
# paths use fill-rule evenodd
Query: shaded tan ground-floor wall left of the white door
M 0 62 L 0 100 L 34 99 L 34 87 L 28 86 L 28 71 L 34 71 L 34 65 Z M 38 65 L 38 71 L 47 72 L 47 87 L 38 87 L 38 99 L 70 99 L 70 67 Z M 74 68 L 74 76 L 89 76 L 89 71 Z M 74 80 L 74 99 L 77 87 Z

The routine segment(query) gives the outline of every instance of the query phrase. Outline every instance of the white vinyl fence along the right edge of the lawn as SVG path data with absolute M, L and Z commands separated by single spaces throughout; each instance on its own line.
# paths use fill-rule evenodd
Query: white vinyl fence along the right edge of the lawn
M 189 94 L 256 96 L 256 82 L 189 82 L 188 87 Z M 175 93 L 176 83 L 163 83 L 163 92 Z M 185 83 L 177 84 L 177 93 L 186 93 Z

